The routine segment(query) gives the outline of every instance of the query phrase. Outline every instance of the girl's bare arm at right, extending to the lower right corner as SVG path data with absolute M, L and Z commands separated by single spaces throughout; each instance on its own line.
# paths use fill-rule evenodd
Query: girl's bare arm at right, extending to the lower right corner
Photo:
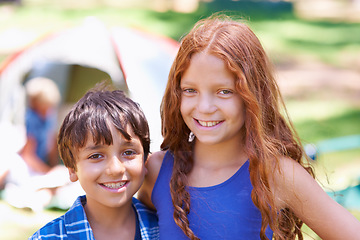
M 360 222 L 334 201 L 297 162 L 282 159 L 275 177 L 280 207 L 289 207 L 321 239 L 360 239 Z

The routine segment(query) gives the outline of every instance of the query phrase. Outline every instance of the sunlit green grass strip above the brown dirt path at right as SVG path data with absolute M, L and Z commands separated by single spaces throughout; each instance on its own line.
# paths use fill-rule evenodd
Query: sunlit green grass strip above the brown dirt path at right
M 360 51 L 359 23 L 331 23 L 299 19 L 255 21 L 254 29 L 278 63 L 294 57 L 313 57 L 347 67 L 340 58 L 355 58 Z

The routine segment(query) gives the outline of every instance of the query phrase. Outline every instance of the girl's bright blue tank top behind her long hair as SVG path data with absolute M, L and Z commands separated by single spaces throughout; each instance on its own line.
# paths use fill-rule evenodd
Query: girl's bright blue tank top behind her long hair
M 159 216 L 160 239 L 188 239 L 173 219 L 170 178 L 174 157 L 168 151 L 156 180 L 152 202 Z M 261 213 L 251 200 L 249 161 L 228 180 L 211 187 L 188 187 L 190 228 L 202 240 L 260 239 Z M 272 239 L 268 227 L 266 236 Z

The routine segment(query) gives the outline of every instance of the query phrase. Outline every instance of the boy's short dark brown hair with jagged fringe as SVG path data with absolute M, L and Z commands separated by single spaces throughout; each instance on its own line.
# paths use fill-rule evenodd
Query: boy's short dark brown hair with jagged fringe
M 148 122 L 140 106 L 125 96 L 121 90 L 106 90 L 95 87 L 88 91 L 66 115 L 58 135 L 60 157 L 68 168 L 76 170 L 76 151 L 84 147 L 88 137 L 94 143 L 113 143 L 109 122 L 130 140 L 126 132 L 129 126 L 139 137 L 144 150 L 144 161 L 150 152 Z

